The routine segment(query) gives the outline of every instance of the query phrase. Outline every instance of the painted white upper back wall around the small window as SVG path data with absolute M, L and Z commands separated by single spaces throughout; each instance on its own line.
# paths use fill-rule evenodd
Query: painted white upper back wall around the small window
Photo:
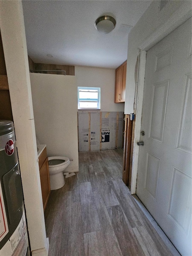
M 114 103 L 115 69 L 75 66 L 77 86 L 101 87 L 101 111 L 124 111 L 124 103 Z

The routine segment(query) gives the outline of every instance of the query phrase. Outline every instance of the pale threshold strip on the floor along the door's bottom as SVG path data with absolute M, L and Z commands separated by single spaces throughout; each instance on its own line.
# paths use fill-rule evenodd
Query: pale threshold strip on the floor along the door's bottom
M 159 234 L 159 236 L 161 237 L 161 239 L 164 241 L 164 243 L 167 245 L 167 247 L 170 249 L 171 253 L 174 256 L 181 256 L 181 254 L 179 253 L 179 251 L 177 251 L 177 249 L 175 248 L 175 246 L 172 244 L 172 242 L 170 241 L 170 239 L 166 236 L 166 234 L 164 233 L 164 231 L 161 229 L 161 227 L 157 224 L 157 222 L 155 221 L 155 219 L 152 217 L 152 215 L 148 212 L 148 210 L 145 208 L 145 206 L 143 205 L 143 203 L 140 201 L 140 199 L 137 197 L 136 194 L 132 195 L 136 201 L 136 203 L 138 204 L 138 206 L 141 208 L 141 210 L 143 211 L 143 213 L 146 215 L 146 217 L 148 218 L 148 220 L 150 221 L 150 223 L 152 224 L 152 226 L 155 228 L 155 230 L 157 231 L 157 233 Z

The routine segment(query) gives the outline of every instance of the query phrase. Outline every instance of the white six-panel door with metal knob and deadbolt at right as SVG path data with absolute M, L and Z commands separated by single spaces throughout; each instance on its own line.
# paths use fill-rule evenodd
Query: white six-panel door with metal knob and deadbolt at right
M 191 256 L 191 19 L 147 52 L 137 196 Z

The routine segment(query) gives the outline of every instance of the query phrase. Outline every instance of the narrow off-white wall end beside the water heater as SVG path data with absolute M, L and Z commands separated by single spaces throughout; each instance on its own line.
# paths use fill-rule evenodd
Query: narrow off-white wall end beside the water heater
M 32 255 L 48 255 L 29 64 L 21 1 L 0 1 L 0 28 L 9 83 Z

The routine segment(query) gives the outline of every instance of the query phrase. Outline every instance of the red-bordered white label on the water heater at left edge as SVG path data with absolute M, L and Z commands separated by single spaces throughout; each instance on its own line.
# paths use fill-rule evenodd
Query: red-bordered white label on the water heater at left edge
M 5 213 L 5 206 L 0 182 L 0 241 L 7 235 L 8 232 L 9 230 L 7 225 L 7 217 Z

